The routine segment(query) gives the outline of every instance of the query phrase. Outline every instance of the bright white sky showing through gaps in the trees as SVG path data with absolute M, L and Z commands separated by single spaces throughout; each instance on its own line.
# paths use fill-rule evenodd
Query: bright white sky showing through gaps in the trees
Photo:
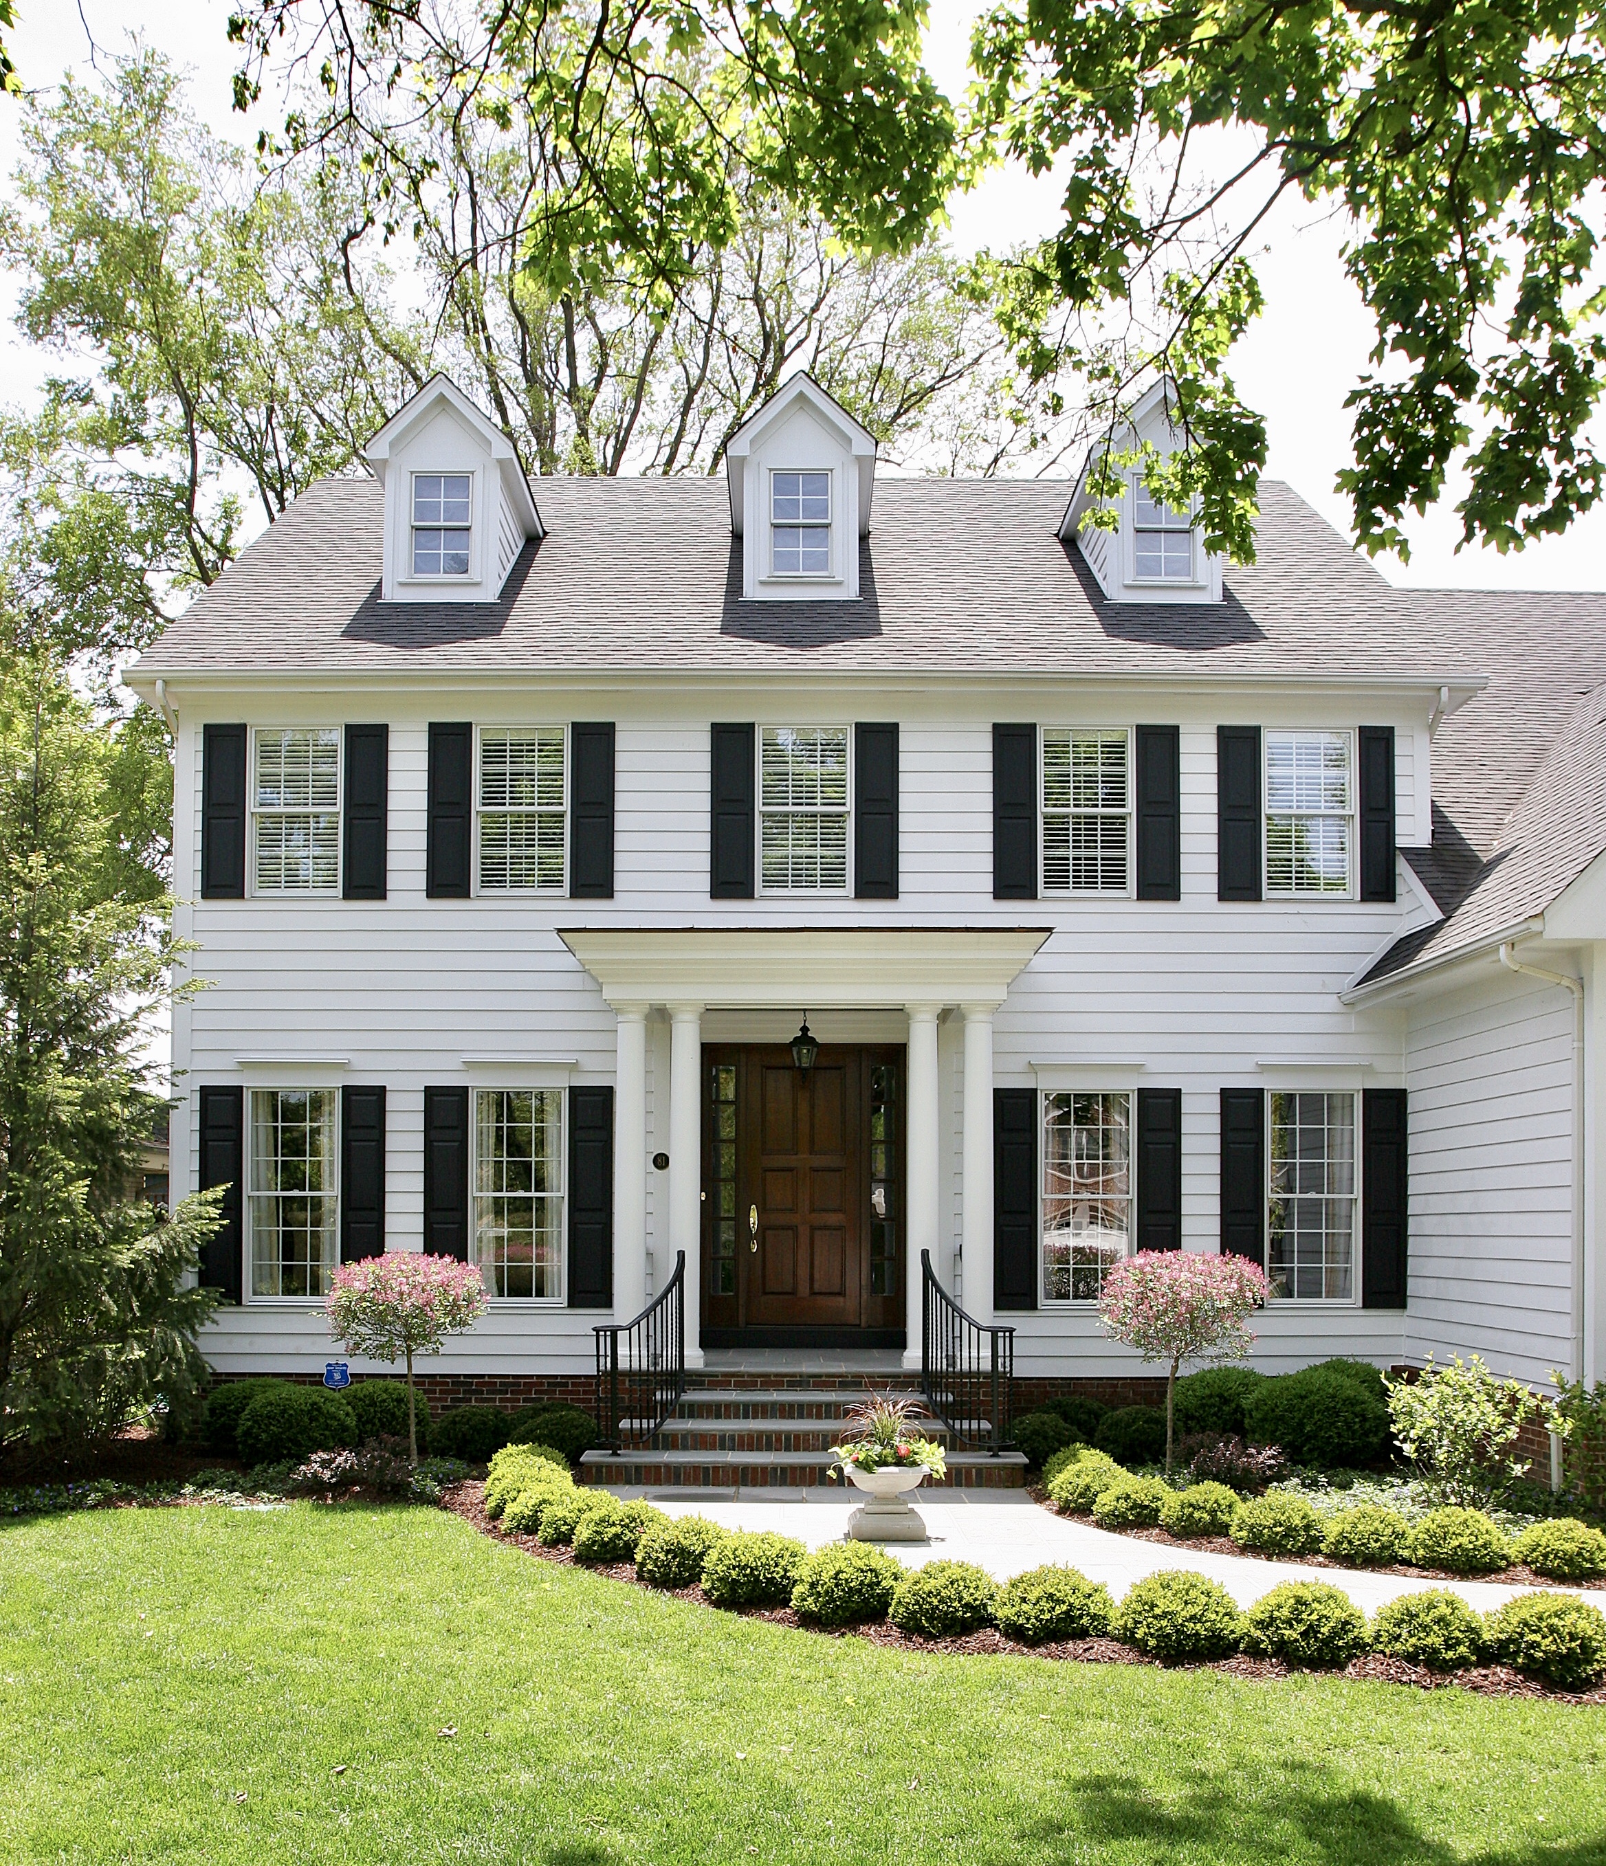
M 101 54 L 127 49 L 127 0 L 17 0 L 13 58 L 28 90 L 56 82 L 63 69 L 92 73 Z M 932 0 L 928 62 L 949 95 L 965 84 L 965 47 L 979 11 L 975 0 Z M 192 73 L 196 112 L 224 136 L 250 142 L 258 119 L 232 110 L 232 47 L 226 41 L 230 0 L 161 0 L 144 9 L 148 43 Z M 0 174 L 15 166 L 15 106 L 0 99 Z M 951 237 L 965 252 L 988 243 L 1007 246 L 1040 239 L 1057 222 L 1051 181 L 1020 170 L 988 177 L 973 194 L 951 203 Z M 1264 252 L 1255 256 L 1266 310 L 1231 362 L 1240 392 L 1266 416 L 1270 453 L 1266 472 L 1287 480 L 1339 530 L 1346 530 L 1346 502 L 1333 491 L 1335 474 L 1350 463 L 1345 396 L 1367 368 L 1371 327 L 1359 295 L 1341 265 L 1341 228 L 1331 215 L 1305 203 L 1279 211 L 1266 226 Z M 0 310 L 7 310 L 0 280 Z M 9 328 L 0 328 L 4 394 L 24 401 L 41 379 L 41 362 Z M 1458 522 L 1451 511 L 1457 489 L 1427 519 L 1406 526 L 1410 564 L 1380 558 L 1391 582 L 1490 590 L 1606 588 L 1606 509 L 1582 519 L 1563 537 L 1522 552 L 1457 552 Z

